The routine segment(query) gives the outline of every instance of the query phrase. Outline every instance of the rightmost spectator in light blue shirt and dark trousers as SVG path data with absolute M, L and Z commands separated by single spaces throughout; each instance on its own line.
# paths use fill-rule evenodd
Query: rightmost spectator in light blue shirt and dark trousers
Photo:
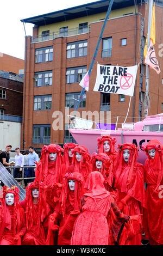
M 34 162 L 39 162 L 39 155 L 37 155 L 34 151 L 34 148 L 32 146 L 29 147 L 29 154 L 28 154 L 28 166 L 36 166 Z M 24 175 L 24 178 L 32 178 L 35 177 L 35 167 L 28 167 L 26 176 Z M 32 180 L 27 180 L 27 183 L 29 183 Z

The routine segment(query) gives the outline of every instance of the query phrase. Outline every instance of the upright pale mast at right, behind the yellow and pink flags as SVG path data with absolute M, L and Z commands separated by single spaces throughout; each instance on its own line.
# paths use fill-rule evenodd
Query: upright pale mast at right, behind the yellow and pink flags
M 153 7 L 153 0 L 149 0 L 147 51 L 148 51 L 148 47 L 150 45 L 151 24 L 152 24 L 152 7 Z M 146 91 L 145 91 L 145 100 L 144 100 L 144 117 L 145 118 L 148 115 L 149 107 L 150 107 L 150 100 L 149 100 L 149 65 L 146 64 Z

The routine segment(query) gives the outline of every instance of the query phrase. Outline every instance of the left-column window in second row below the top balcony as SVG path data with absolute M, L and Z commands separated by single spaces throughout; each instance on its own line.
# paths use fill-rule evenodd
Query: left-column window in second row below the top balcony
M 52 71 L 36 72 L 34 76 L 34 87 L 52 86 Z

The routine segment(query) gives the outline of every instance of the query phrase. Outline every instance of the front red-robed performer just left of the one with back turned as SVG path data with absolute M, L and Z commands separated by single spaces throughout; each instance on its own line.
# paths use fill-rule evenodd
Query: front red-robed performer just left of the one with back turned
M 59 204 L 49 217 L 49 237 L 52 235 L 51 229 L 56 228 L 57 219 L 60 219 L 58 245 L 70 245 L 73 224 L 82 207 L 83 187 L 84 178 L 82 174 L 65 174 Z M 51 240 L 53 242 L 52 237 Z

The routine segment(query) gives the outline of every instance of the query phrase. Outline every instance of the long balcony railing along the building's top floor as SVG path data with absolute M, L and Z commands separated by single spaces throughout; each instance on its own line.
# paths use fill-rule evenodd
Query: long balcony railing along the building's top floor
M 55 38 L 60 38 L 60 37 L 67 37 L 67 36 L 74 36 L 74 35 L 81 35 L 81 34 L 85 34 L 85 33 L 89 33 L 90 32 L 90 26 L 86 26 L 86 27 L 76 27 L 76 28 L 70 28 L 68 29 L 68 31 L 65 32 L 53 32 L 53 33 L 49 33 L 49 35 L 35 35 L 32 36 L 32 43 L 35 42 L 43 42 L 43 41 L 49 41 L 49 40 L 54 40 Z

